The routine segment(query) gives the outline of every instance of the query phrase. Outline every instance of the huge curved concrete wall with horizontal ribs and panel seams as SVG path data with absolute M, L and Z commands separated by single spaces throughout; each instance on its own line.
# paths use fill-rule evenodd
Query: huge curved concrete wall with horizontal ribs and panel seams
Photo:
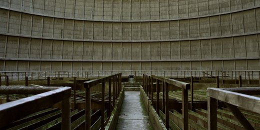
M 1 0 L 0 17 L 0 70 L 260 69 L 260 0 Z

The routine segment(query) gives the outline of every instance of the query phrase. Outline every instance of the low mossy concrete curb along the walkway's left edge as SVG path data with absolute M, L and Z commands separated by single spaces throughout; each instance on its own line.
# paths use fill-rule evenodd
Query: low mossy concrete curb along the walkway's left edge
M 120 94 L 119 94 L 119 100 L 118 102 L 115 104 L 115 108 L 113 109 L 113 111 L 111 112 L 111 116 L 105 126 L 105 129 L 115 129 L 116 127 L 116 123 L 118 120 L 118 116 L 121 110 L 121 106 L 123 103 L 123 98 L 124 98 L 124 88 L 122 88 Z

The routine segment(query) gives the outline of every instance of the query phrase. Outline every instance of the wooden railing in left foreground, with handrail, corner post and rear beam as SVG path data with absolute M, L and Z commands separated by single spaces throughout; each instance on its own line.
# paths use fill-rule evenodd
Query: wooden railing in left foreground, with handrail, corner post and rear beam
M 0 94 L 36 94 L 0 104 L 0 127 L 61 101 L 61 129 L 70 129 L 71 87 L 1 86 Z

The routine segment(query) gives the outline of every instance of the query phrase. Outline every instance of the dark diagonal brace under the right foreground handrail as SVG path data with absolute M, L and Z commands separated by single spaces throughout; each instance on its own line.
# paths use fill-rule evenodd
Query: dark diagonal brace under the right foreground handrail
M 225 103 L 227 107 L 231 110 L 233 115 L 237 118 L 237 120 L 246 128 L 246 129 L 254 129 L 252 125 L 248 122 L 248 120 L 243 116 L 241 111 L 234 105 Z

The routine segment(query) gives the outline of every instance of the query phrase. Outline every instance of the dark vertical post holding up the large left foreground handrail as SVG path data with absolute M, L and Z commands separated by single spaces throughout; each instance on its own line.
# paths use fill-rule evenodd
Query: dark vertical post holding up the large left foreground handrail
M 70 97 L 61 101 L 61 129 L 70 130 Z

